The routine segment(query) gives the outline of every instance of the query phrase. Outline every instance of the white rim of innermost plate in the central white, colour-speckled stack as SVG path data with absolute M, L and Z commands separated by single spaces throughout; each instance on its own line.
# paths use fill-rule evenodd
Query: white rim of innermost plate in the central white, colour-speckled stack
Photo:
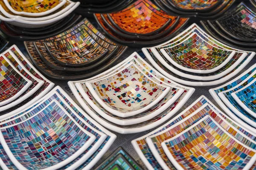
M 136 65 L 134 65 L 134 66 L 137 67 Z M 140 71 L 139 68 L 137 68 L 137 69 Z M 143 71 L 142 71 L 142 74 L 152 81 L 152 79 L 149 78 L 148 76 L 146 76 L 145 73 L 143 73 Z M 154 82 L 154 81 L 152 81 L 152 82 Z M 89 89 L 89 91 L 91 92 L 91 94 L 93 95 L 93 97 L 97 100 L 97 102 L 99 102 L 100 105 L 102 105 L 103 108 L 105 108 L 107 111 L 111 112 L 112 114 L 114 114 L 116 116 L 129 117 L 129 116 L 137 115 L 139 113 L 142 113 L 142 112 L 150 109 L 151 107 L 156 105 L 161 99 L 163 99 L 166 96 L 166 94 L 171 90 L 171 88 L 169 86 L 160 85 L 159 83 L 156 83 L 156 82 L 154 82 L 154 83 L 159 85 L 159 86 L 161 86 L 161 87 L 163 87 L 163 88 L 166 88 L 166 89 L 164 91 L 161 90 L 162 92 L 160 93 L 159 96 L 157 96 L 157 99 L 154 99 L 152 102 L 150 102 L 145 107 L 140 108 L 140 109 L 138 109 L 136 111 L 130 111 L 130 112 L 127 111 L 126 113 L 119 112 L 119 111 L 117 111 L 115 109 L 112 109 L 108 105 L 106 105 L 105 102 L 103 102 L 102 99 L 99 98 L 98 94 L 95 92 L 95 90 L 94 90 L 93 86 L 91 85 L 91 83 L 86 82 L 85 84 L 86 84 L 87 88 Z

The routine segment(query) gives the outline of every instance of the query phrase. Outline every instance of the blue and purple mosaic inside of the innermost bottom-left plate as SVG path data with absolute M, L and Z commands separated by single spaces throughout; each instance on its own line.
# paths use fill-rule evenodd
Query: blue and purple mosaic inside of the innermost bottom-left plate
M 38 112 L 25 122 L 1 129 L 1 142 L 27 169 L 58 164 L 92 140 L 56 102 Z

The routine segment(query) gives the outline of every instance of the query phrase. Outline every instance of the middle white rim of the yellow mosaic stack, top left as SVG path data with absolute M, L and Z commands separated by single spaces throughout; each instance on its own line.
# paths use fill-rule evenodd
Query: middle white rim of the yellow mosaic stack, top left
M 55 14 L 51 14 L 51 15 L 48 15 L 46 17 L 36 17 L 36 18 L 33 18 L 33 17 L 22 17 L 20 15 L 9 14 L 7 11 L 4 10 L 4 8 L 1 5 L 0 5 L 0 11 L 6 17 L 9 17 L 9 18 L 17 18 L 18 20 L 26 20 L 26 21 L 43 21 L 43 20 L 50 20 L 50 19 L 52 19 L 54 17 L 58 17 L 59 15 L 64 14 L 64 12 L 67 12 L 68 10 L 70 10 L 70 8 L 73 7 L 74 5 L 75 5 L 75 3 L 72 2 L 66 8 L 62 9 L 61 11 L 58 11 Z

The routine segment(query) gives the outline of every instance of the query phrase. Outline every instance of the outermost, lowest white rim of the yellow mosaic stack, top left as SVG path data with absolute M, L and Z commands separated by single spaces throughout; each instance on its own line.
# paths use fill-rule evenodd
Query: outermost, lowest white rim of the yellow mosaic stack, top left
M 70 10 L 64 12 L 64 14 L 59 15 L 58 17 L 54 17 L 50 20 L 43 20 L 43 21 L 26 21 L 26 20 L 20 20 L 18 18 L 6 18 L 2 15 L 0 15 L 0 20 L 6 21 L 7 23 L 10 23 L 15 26 L 20 26 L 24 28 L 40 28 L 43 26 L 48 26 L 52 23 L 55 23 L 64 17 L 67 17 L 72 11 L 74 11 L 78 6 L 79 2 L 77 2 L 73 7 L 70 8 Z

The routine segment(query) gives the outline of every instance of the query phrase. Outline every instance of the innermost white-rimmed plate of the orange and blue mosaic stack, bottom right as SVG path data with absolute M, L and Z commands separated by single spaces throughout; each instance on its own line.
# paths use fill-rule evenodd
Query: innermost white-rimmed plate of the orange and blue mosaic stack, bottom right
M 256 160 L 256 150 L 237 140 L 218 123 L 211 116 L 205 116 L 192 127 L 161 144 L 168 159 L 178 170 L 252 167 Z

